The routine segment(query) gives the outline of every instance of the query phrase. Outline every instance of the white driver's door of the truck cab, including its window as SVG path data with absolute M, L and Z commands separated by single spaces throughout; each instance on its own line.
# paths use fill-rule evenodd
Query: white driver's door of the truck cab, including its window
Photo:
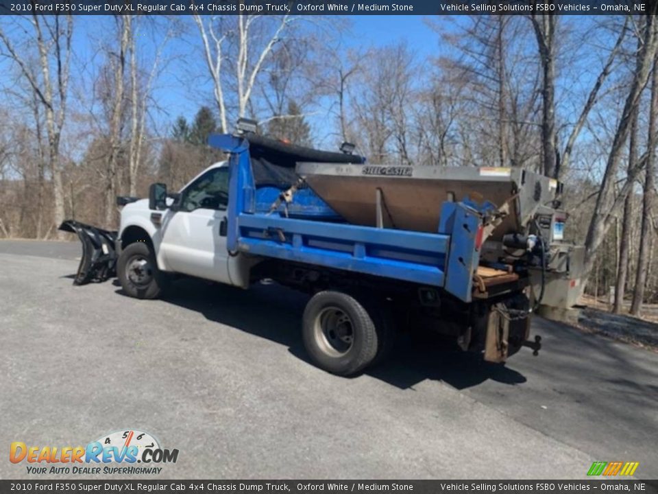
M 231 283 L 226 236 L 220 235 L 227 207 L 226 166 L 209 169 L 183 189 L 162 224 L 160 251 L 170 270 Z

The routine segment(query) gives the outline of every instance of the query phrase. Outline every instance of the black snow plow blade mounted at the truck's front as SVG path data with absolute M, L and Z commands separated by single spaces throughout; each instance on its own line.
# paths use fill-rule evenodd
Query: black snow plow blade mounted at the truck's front
M 106 281 L 117 275 L 117 251 L 114 248 L 117 232 L 73 220 L 66 220 L 59 229 L 77 233 L 77 237 L 82 242 L 82 259 L 73 285 Z

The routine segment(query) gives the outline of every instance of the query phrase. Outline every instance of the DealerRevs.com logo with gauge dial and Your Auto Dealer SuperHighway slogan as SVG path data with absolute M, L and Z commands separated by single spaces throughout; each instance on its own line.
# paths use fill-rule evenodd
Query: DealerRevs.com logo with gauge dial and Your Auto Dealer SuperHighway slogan
M 123 430 L 101 436 L 86 446 L 10 445 L 9 460 L 25 464 L 30 474 L 153 474 L 175 463 L 178 449 L 163 449 L 148 432 Z

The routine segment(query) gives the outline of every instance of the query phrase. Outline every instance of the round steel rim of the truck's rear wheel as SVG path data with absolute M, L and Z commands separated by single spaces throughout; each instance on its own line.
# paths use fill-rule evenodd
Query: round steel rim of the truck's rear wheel
M 332 357 L 341 357 L 354 344 L 354 324 L 338 307 L 324 307 L 313 322 L 313 336 L 319 348 Z

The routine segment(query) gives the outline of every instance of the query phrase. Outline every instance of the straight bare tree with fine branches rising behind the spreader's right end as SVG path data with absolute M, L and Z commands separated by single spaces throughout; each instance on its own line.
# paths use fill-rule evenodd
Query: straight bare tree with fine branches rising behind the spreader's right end
M 526 165 L 536 155 L 536 53 L 520 40 L 534 36 L 525 19 L 513 16 L 470 16 L 457 34 L 443 33 L 457 56 L 439 60 L 441 71 L 459 80 L 459 154 L 463 161 Z M 513 41 L 512 41 L 513 40 Z M 448 73 L 446 73 L 448 71 Z M 461 73 L 460 73 L 461 71 Z M 472 135 L 476 137 L 471 137 Z

